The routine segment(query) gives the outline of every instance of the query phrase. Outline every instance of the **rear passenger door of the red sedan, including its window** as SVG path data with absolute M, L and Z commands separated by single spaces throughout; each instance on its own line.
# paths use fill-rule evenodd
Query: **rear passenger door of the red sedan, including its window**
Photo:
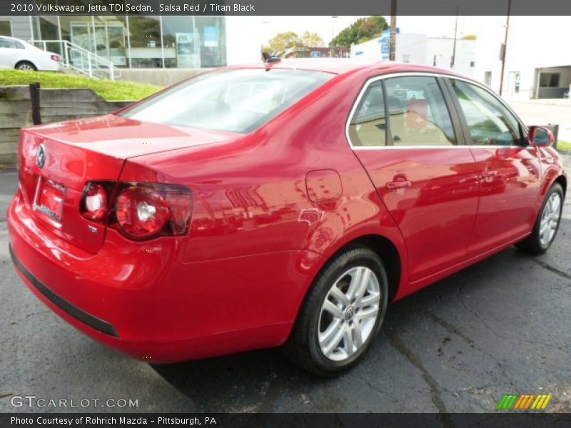
M 380 76 L 348 121 L 353 151 L 405 240 L 411 282 L 465 260 L 477 212 L 474 158 L 458 145 L 448 97 L 438 76 Z

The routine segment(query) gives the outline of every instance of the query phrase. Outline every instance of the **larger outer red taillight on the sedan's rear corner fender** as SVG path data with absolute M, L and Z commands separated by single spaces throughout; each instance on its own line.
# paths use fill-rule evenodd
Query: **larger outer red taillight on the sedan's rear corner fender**
M 119 193 L 115 215 L 119 228 L 130 238 L 149 238 L 161 232 L 183 235 L 188 231 L 191 193 L 176 185 L 130 185 Z

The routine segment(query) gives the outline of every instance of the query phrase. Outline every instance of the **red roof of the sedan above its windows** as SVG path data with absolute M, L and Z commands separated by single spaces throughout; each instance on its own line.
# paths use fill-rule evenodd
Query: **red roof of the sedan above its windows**
M 383 73 L 419 72 L 462 76 L 460 73 L 455 73 L 444 68 L 433 66 L 424 66 L 414 63 L 400 63 L 396 61 L 370 61 L 360 58 L 288 58 L 274 63 L 263 63 L 260 61 L 255 64 L 230 66 L 227 68 L 285 68 L 294 70 L 322 71 L 334 74 L 350 73 L 351 71 L 382 71 Z

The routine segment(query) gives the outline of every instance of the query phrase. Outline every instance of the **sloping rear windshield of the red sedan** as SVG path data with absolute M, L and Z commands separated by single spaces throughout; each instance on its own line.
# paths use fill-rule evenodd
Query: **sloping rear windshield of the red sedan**
M 320 71 L 221 70 L 174 86 L 121 116 L 154 123 L 248 133 L 334 75 Z

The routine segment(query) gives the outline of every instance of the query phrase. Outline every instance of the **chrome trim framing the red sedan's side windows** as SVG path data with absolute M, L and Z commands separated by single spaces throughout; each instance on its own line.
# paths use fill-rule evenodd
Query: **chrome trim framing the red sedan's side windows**
M 517 114 L 515 114 L 515 111 L 513 111 L 512 108 L 510 106 L 508 106 L 507 103 L 505 103 L 505 101 L 503 101 L 502 98 L 500 98 L 500 96 L 497 95 L 497 93 L 492 91 L 490 88 L 485 86 L 483 83 L 477 82 L 477 81 L 472 80 L 470 78 L 455 76 L 453 74 L 446 74 L 446 73 L 436 73 L 436 72 L 430 73 L 427 71 L 419 71 L 419 72 L 395 71 L 394 73 L 387 73 L 387 74 L 382 74 L 380 76 L 374 76 L 372 78 L 369 78 L 365 82 L 365 84 L 363 85 L 363 88 L 361 88 L 359 95 L 357 96 L 357 99 L 355 100 L 355 103 L 353 103 L 353 107 L 351 107 L 349 116 L 347 118 L 347 122 L 345 123 L 345 138 L 347 138 L 349 146 L 352 150 L 380 150 L 380 149 L 386 149 L 386 148 L 403 149 L 403 148 L 460 148 L 460 147 L 464 147 L 464 148 L 482 148 L 482 147 L 527 148 L 527 147 L 529 147 L 529 146 L 517 146 L 517 145 L 501 146 L 501 145 L 491 145 L 491 144 L 490 144 L 490 146 L 465 145 L 465 144 L 452 144 L 450 146 L 436 146 L 436 145 L 435 146 L 430 146 L 430 145 L 426 145 L 426 146 L 386 146 L 386 145 L 383 145 L 383 146 L 353 146 L 353 142 L 349 138 L 349 126 L 350 126 L 351 118 L 353 118 L 353 115 L 355 114 L 355 110 L 357 109 L 357 106 L 359 105 L 361 98 L 363 98 L 363 95 L 365 94 L 365 91 L 367 91 L 370 84 L 374 83 L 376 81 L 384 80 L 386 78 L 405 77 L 405 76 L 428 76 L 428 77 L 434 77 L 434 78 L 438 78 L 438 77 L 453 78 L 455 80 L 465 81 L 466 83 L 471 83 L 474 86 L 478 86 L 479 88 L 482 88 L 484 91 L 487 91 L 488 93 L 490 93 L 500 104 L 502 104 L 502 106 L 507 108 L 507 111 L 512 113 L 512 115 L 515 117 L 517 123 L 519 123 L 520 126 L 522 127 L 522 131 L 527 131 L 527 126 L 525 126 L 525 124 L 521 121 L 520 117 L 517 116 Z M 455 94 L 453 94 L 453 95 L 456 96 Z

